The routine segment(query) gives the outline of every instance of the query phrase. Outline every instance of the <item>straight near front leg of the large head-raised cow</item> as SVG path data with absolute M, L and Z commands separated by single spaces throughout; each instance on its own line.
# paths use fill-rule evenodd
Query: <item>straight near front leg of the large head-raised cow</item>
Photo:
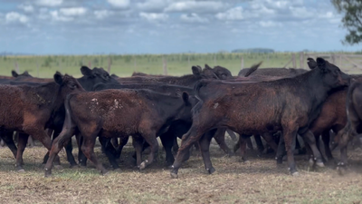
M 295 142 L 297 140 L 298 127 L 283 127 L 283 138 L 285 141 L 285 150 L 287 151 L 288 166 L 292 176 L 299 175 L 294 160 Z

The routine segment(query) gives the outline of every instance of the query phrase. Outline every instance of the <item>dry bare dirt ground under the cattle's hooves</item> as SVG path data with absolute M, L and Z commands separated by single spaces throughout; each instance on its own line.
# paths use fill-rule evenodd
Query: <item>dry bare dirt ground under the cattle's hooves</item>
M 232 147 L 229 142 L 229 146 Z M 108 160 L 96 147 L 97 155 Z M 74 149 L 75 156 L 77 149 Z M 206 174 L 201 157 L 193 156 L 179 170 L 179 178 L 170 179 L 163 151 L 147 170 L 134 168 L 132 146 L 121 156 L 120 170 L 100 176 L 89 163 L 87 169 L 69 169 L 61 151 L 63 170 L 52 170 L 52 178 L 43 177 L 41 162 L 45 148 L 37 145 L 24 152 L 24 169 L 14 170 L 8 148 L 0 149 L 0 200 L 2 203 L 360 203 L 362 201 L 362 151 L 349 151 L 348 174 L 339 176 L 329 168 L 310 171 L 304 156 L 297 156 L 300 177 L 289 175 L 284 162 L 277 168 L 271 156 L 259 158 L 254 152 L 250 163 L 238 156 L 224 156 L 212 145 L 216 172 Z M 336 156 L 338 151 L 334 151 Z M 145 156 L 144 156 L 145 158 Z

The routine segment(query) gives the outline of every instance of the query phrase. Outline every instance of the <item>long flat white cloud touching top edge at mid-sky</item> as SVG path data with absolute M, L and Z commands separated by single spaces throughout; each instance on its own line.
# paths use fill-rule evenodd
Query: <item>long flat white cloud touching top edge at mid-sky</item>
M 185 1 L 185 2 L 176 2 L 171 5 L 168 5 L 165 8 L 166 12 L 194 12 L 194 13 L 204 13 L 204 12 L 218 12 L 225 8 L 225 4 L 222 2 L 212 2 L 212 1 Z

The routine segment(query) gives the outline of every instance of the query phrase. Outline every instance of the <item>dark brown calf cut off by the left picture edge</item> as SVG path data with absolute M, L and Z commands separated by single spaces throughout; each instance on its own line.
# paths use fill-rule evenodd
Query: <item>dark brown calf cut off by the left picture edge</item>
M 62 108 L 64 99 L 71 92 L 82 91 L 81 85 L 71 76 L 54 74 L 55 82 L 41 85 L 0 86 L 0 127 L 2 131 L 20 131 L 16 167 L 23 170 L 23 152 L 27 136 L 41 141 L 50 150 L 51 140 L 44 131 L 52 121 L 54 112 Z M 24 140 L 24 141 L 23 141 Z

